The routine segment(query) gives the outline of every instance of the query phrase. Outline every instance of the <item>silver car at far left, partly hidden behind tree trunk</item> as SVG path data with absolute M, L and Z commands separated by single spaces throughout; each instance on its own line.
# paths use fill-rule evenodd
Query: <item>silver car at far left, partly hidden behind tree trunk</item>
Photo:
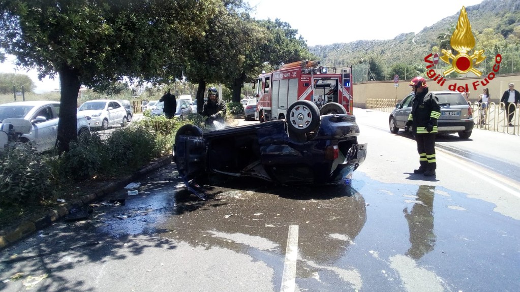
M 0 104 L 0 151 L 10 142 L 31 143 L 36 151 L 54 149 L 58 136 L 58 101 L 19 101 Z M 77 135 L 90 135 L 87 118 L 77 115 Z

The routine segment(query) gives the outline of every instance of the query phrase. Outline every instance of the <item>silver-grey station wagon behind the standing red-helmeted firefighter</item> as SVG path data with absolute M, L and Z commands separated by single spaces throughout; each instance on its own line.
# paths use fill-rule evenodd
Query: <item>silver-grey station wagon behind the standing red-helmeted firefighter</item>
M 471 136 L 473 130 L 473 111 L 464 97 L 457 91 L 430 91 L 439 99 L 440 118 L 437 120 L 438 134 L 459 134 L 461 139 Z M 397 103 L 388 118 L 390 131 L 397 133 L 405 128 L 412 111 L 413 92 Z M 410 129 L 411 130 L 411 129 Z

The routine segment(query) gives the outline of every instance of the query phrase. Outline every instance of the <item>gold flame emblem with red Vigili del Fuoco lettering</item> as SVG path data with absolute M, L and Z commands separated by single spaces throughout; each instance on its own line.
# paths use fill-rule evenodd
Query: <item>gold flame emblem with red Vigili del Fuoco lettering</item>
M 428 78 L 432 78 L 437 82 L 440 86 L 444 86 L 446 78 L 444 76 L 457 72 L 460 74 L 465 74 L 467 72 L 472 72 L 478 77 L 482 76 L 482 72 L 480 72 L 477 68 L 482 61 L 486 59 L 484 56 L 484 50 L 474 50 L 475 47 L 475 37 L 471 32 L 471 24 L 470 20 L 467 19 L 466 8 L 462 6 L 460 10 L 459 20 L 457 21 L 457 28 L 451 35 L 450 39 L 451 48 L 457 51 L 457 54 L 453 54 L 451 50 L 441 50 L 444 54 L 440 56 L 440 60 L 451 65 L 450 68 L 445 70 L 442 74 L 435 72 L 432 67 L 434 66 L 434 62 L 431 60 L 432 54 L 426 56 L 424 61 L 428 63 L 426 69 L 430 69 L 426 72 L 426 76 Z M 470 52 L 473 50 L 473 53 L 470 55 Z M 451 60 L 451 61 L 450 61 Z M 500 62 L 502 61 L 502 56 L 498 54 L 495 57 L 495 65 L 493 65 L 493 71 L 489 72 L 486 78 L 482 81 L 475 81 L 471 83 L 473 90 L 477 90 L 477 87 L 482 85 L 486 86 L 489 84 L 493 78 L 495 78 L 495 73 L 500 69 Z M 469 91 L 469 85 L 466 83 L 462 86 L 457 86 L 457 83 L 448 85 L 449 90 L 453 91 Z

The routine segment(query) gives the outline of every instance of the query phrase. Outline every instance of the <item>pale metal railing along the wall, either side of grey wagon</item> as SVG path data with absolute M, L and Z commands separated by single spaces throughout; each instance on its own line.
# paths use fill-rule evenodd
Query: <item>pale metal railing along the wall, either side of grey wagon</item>
M 366 101 L 366 109 L 387 113 L 391 113 L 395 105 L 395 99 L 367 98 Z M 510 104 L 510 107 L 513 110 L 514 105 Z M 514 107 L 515 113 L 511 121 L 513 127 L 508 126 L 508 116 L 504 110 L 505 104 L 503 102 L 491 102 L 485 110 L 482 109 L 478 102 L 474 102 L 471 104 L 471 109 L 473 111 L 475 129 L 520 136 L 520 109 L 518 107 Z

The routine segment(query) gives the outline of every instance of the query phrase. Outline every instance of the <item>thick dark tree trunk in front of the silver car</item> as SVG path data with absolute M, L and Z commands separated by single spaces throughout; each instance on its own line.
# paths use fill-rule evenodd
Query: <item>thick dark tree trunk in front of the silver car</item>
M 69 152 L 69 143 L 77 141 L 77 95 L 80 92 L 80 76 L 74 69 L 63 66 L 60 76 L 60 120 L 56 147 L 59 152 Z

